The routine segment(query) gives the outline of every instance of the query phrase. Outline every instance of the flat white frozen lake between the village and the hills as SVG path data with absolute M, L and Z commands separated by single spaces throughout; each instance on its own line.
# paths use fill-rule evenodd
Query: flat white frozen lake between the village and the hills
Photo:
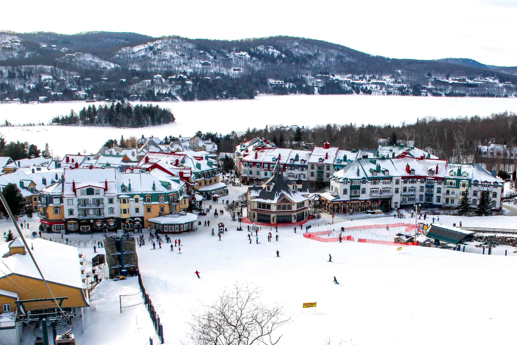
M 56 102 L 43 104 L 0 104 L 0 123 L 48 123 L 56 115 L 79 112 L 93 103 Z M 94 103 L 105 104 L 105 103 Z M 49 143 L 54 154 L 97 152 L 109 138 L 135 136 L 192 136 L 196 131 L 226 134 L 266 125 L 315 126 L 319 124 L 412 123 L 417 118 L 488 116 L 502 111 L 517 112 L 515 98 L 449 98 L 366 95 L 261 96 L 254 100 L 154 102 L 174 113 L 173 124 L 145 128 L 33 126 L 4 127 L 7 141 L 28 141 L 38 147 Z

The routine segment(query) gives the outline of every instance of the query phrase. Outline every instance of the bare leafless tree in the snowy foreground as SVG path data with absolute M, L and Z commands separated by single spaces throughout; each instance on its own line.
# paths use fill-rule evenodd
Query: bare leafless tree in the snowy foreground
M 277 329 L 291 317 L 282 306 L 267 306 L 260 297 L 257 288 L 235 283 L 232 291 L 205 305 L 204 312 L 193 314 L 190 339 L 196 345 L 277 344 L 282 338 Z

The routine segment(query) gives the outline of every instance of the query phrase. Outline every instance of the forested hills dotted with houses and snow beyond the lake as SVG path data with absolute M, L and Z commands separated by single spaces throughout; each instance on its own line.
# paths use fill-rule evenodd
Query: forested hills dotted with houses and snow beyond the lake
M 324 41 L 0 32 L 1 101 L 203 100 L 269 94 L 509 97 L 517 70 L 372 56 Z

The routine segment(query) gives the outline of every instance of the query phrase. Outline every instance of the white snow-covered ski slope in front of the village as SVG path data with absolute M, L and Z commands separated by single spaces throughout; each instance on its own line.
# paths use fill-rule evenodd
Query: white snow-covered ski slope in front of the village
M 222 199 L 236 199 L 245 189 L 229 186 L 230 196 Z M 205 202 L 207 205 L 222 207 L 221 203 Z M 238 223 L 226 213 L 219 218 L 213 213 L 199 218 L 203 223 L 205 219 L 210 220 L 210 227 L 202 225 L 197 231 L 172 236 L 181 239 L 181 254 L 178 247 L 171 252 L 166 244 L 150 250 L 148 238 L 146 246 L 137 249 L 142 278 L 162 320 L 166 343 L 188 344 L 191 312 L 214 302 L 219 292 L 236 281 L 260 287 L 266 303 L 285 305 L 292 322 L 280 328 L 284 336 L 279 345 L 319 345 L 328 338 L 332 343 L 342 340 L 342 344 L 356 345 L 486 344 L 513 339 L 508 330 L 513 329 L 517 312 L 511 304 L 494 302 L 493 296 L 517 283 L 511 274 L 515 257 L 417 246 L 397 252 L 396 246 L 351 241 L 323 243 L 304 238 L 300 230 L 295 234 L 291 226 L 279 228 L 278 242 L 274 229 L 272 242 L 267 242 L 270 229 L 262 228 L 260 244 L 255 244 L 254 237 L 250 244 L 247 231 L 236 231 Z M 515 219 L 440 215 L 442 223 L 461 220 L 465 227 L 515 229 Z M 27 233 L 37 229 L 38 218 L 29 221 Z M 228 229 L 222 241 L 210 234 L 220 221 Z M 334 224 L 329 224 L 330 216 L 323 214 L 307 224 L 312 225 L 310 231 L 321 231 L 401 221 L 411 223 L 414 218 L 337 215 Z M 246 224 L 242 225 L 246 229 Z M 9 228 L 7 220 L 0 221 L 2 233 Z M 43 236 L 60 240 L 59 234 Z M 90 241 L 82 251 L 86 262 L 91 260 L 93 241 L 100 239 L 99 235 L 93 240 L 88 235 L 68 237 L 70 241 Z M 329 253 L 332 262 L 327 262 Z M 201 279 L 195 276 L 196 270 Z M 339 285 L 332 283 L 333 276 Z M 80 320 L 75 320 L 75 334 L 81 343 L 112 343 L 104 335 L 113 327 L 121 329 L 117 343 L 148 343 L 154 331 L 145 308 L 127 308 L 122 314 L 118 310 L 118 294 L 137 291 L 134 278 L 102 282 L 92 295 L 84 333 Z M 304 302 L 317 302 L 317 307 L 302 309 Z M 26 330 L 28 333 L 32 329 Z

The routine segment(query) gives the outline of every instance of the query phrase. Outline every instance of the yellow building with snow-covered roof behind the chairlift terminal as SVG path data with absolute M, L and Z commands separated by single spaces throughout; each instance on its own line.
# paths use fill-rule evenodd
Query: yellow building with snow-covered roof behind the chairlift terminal
M 26 247 L 19 238 L 0 245 L 4 253 L 0 261 L 0 303 L 2 312 L 0 337 L 4 344 L 20 344 L 23 323 L 37 322 L 42 316 L 49 321 L 60 320 L 60 311 L 53 297 L 70 317 L 83 317 L 89 306 L 82 253 L 67 246 L 41 238 L 26 239 L 34 259 L 49 288 L 41 279 Z M 59 269 L 56 269 L 59 263 Z M 13 284 L 16 281 L 16 284 Z

